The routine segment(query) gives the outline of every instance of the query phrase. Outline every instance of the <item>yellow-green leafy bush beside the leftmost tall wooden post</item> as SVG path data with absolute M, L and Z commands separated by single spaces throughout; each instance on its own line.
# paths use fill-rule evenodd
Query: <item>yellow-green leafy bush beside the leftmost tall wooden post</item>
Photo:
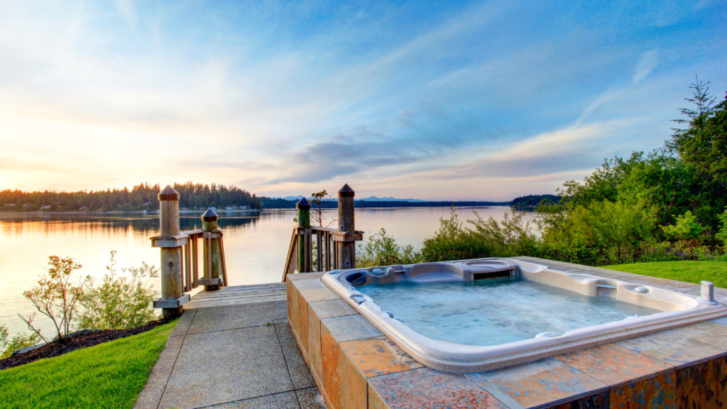
M 154 266 L 142 262 L 138 268 L 121 268 L 116 274 L 116 250 L 111 251 L 108 274 L 100 286 L 89 284 L 81 297 L 82 311 L 76 316 L 76 325 L 83 328 L 126 329 L 139 327 L 156 319 L 152 301 L 157 295 L 149 280 L 159 277 Z M 124 273 L 128 272 L 128 275 Z

